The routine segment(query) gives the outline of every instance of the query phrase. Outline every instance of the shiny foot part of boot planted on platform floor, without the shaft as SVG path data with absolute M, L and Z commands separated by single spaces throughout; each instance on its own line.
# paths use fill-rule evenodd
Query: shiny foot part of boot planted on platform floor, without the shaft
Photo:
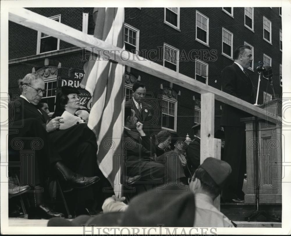
M 31 208 L 28 213 L 28 219 L 50 219 L 52 217 L 64 218 L 64 214 L 55 212 L 44 204 Z

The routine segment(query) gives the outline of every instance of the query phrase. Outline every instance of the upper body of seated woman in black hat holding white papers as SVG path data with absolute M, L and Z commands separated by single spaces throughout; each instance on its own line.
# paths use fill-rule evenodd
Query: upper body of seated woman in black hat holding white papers
M 63 117 L 64 123 L 60 125 L 60 129 L 69 128 L 75 124 L 85 123 L 75 113 L 80 108 L 80 100 L 78 89 L 70 86 L 63 86 L 61 92 L 58 93 L 56 99 L 56 110 L 54 116 Z

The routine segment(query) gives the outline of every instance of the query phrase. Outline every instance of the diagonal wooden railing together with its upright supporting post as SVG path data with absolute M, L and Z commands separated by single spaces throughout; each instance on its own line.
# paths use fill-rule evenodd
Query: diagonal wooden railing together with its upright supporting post
M 222 92 L 214 87 L 208 86 L 190 78 L 186 75 L 174 72 L 153 61 L 138 57 L 130 52 L 124 53 L 121 48 L 95 38 L 93 35 L 84 34 L 65 24 L 56 22 L 45 16 L 39 15 L 24 8 L 10 8 L 9 20 L 28 28 L 41 31 L 50 36 L 59 38 L 65 42 L 86 50 L 97 53 L 97 50 L 107 50 L 110 59 L 114 59 L 123 65 L 133 67 L 155 77 L 172 82 L 189 90 L 201 94 L 201 148 L 200 162 L 205 158 L 213 156 L 220 159 L 220 139 L 214 138 L 214 100 L 227 103 L 235 108 L 244 110 L 258 118 L 269 122 L 278 123 L 278 117 L 261 108 L 256 107 L 230 94 Z M 99 51 L 100 52 L 100 51 Z M 219 199 L 218 199 L 219 200 Z M 217 202 L 217 206 L 219 203 Z

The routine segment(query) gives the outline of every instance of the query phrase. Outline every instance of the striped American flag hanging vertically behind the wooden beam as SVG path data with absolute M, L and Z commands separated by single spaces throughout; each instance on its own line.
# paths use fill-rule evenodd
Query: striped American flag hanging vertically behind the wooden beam
M 124 8 L 94 8 L 93 17 L 96 24 L 94 37 L 124 49 Z M 125 67 L 99 58 L 87 61 L 84 71 L 81 85 L 92 96 L 88 127 L 97 137 L 97 163 L 104 176 L 114 184 L 114 191 L 119 196 L 121 171 L 120 165 L 113 163 L 113 154 L 120 149 L 123 133 Z

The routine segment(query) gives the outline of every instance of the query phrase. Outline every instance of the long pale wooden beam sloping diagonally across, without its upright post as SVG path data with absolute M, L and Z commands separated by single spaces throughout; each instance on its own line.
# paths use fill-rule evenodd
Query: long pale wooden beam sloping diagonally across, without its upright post
M 96 53 L 98 50 L 106 50 L 109 58 L 118 61 L 120 64 L 133 67 L 137 70 L 180 85 L 181 87 L 190 89 L 200 94 L 213 93 L 215 99 L 218 101 L 227 103 L 231 106 L 239 108 L 240 110 L 244 110 L 245 112 L 261 119 L 267 119 L 269 122 L 275 124 L 278 123 L 278 118 L 274 114 L 266 112 L 261 108 L 247 103 L 246 101 L 224 93 L 214 87 L 203 84 L 194 78 L 176 73 L 173 70 L 165 68 L 164 66 L 161 66 L 153 61 L 136 56 L 109 43 L 105 43 L 100 39 L 94 38 L 93 35 L 84 34 L 77 29 L 73 29 L 65 24 L 56 22 L 55 20 L 49 19 L 30 10 L 24 8 L 9 8 L 9 20 L 59 38 L 73 45 L 87 47 L 86 50 L 90 50 L 91 52 Z

